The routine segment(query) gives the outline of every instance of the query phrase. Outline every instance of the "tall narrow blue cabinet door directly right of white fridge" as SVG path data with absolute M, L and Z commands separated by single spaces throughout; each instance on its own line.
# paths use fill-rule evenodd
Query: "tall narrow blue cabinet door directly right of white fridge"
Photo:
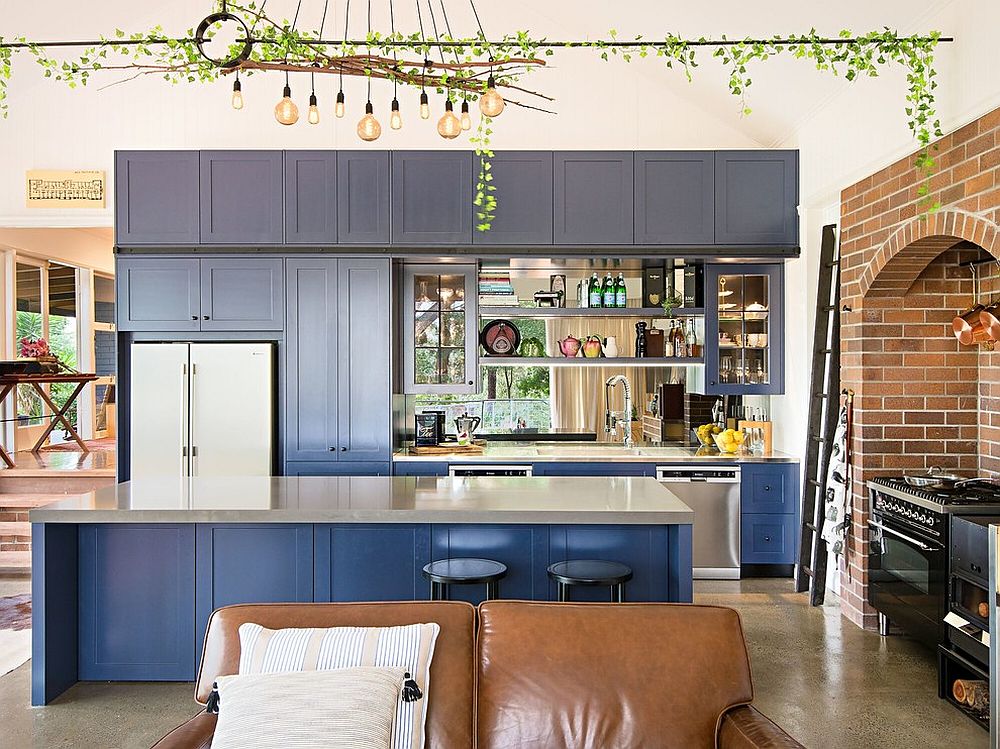
M 285 460 L 336 461 L 337 260 L 290 258 L 285 310 Z

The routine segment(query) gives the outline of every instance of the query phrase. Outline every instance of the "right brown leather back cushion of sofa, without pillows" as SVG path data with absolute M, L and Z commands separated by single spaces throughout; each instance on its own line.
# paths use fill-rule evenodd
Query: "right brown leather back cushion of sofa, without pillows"
M 711 749 L 753 699 L 739 615 L 687 604 L 480 606 L 479 749 Z

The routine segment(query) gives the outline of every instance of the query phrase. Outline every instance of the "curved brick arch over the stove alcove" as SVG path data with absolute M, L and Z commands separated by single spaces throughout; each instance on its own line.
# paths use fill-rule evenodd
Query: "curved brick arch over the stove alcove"
M 902 296 L 934 258 L 961 240 L 1000 258 L 1000 226 L 987 218 L 940 210 L 910 219 L 868 261 L 861 275 L 861 297 Z

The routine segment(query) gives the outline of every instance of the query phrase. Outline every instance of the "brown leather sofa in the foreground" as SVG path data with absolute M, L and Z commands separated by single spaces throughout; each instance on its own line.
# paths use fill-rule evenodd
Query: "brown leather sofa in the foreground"
M 195 698 L 236 673 L 244 622 L 265 627 L 441 626 L 428 749 L 801 747 L 752 706 L 732 609 L 668 603 L 457 601 L 227 606 L 212 614 Z M 478 626 L 477 626 L 478 624 Z M 225 710 L 225 706 L 222 706 Z M 209 749 L 199 713 L 154 749 Z

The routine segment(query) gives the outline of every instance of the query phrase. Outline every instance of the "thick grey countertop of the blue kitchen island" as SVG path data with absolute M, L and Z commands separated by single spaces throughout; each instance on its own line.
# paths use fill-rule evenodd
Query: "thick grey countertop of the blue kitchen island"
M 655 479 L 322 477 L 139 479 L 32 510 L 32 523 L 606 523 L 686 525 Z

